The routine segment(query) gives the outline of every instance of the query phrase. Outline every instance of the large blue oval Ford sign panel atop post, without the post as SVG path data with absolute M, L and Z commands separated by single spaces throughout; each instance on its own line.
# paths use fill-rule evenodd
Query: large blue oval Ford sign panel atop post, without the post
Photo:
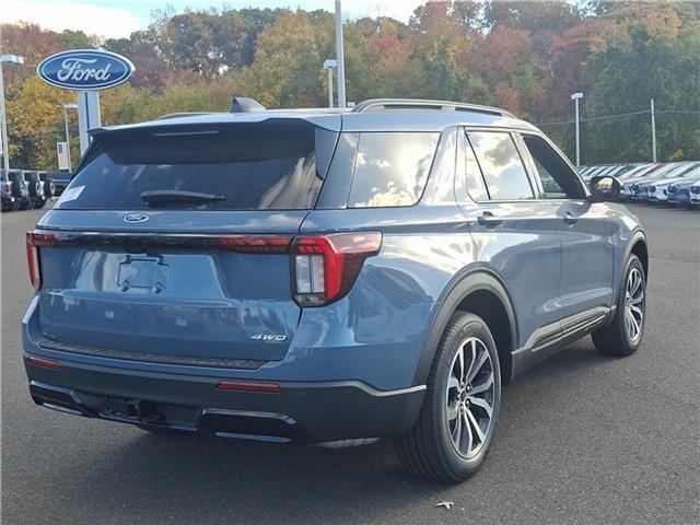
M 133 63 L 116 52 L 77 49 L 45 58 L 36 72 L 57 88 L 104 90 L 129 80 L 133 73 Z

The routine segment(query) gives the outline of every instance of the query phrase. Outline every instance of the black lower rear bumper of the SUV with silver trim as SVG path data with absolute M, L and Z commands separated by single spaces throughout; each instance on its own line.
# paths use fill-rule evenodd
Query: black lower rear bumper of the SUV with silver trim
M 357 381 L 278 383 L 279 393 L 217 389 L 220 380 L 88 366 L 37 366 L 24 354 L 30 392 L 55 410 L 160 428 L 273 442 L 322 443 L 406 432 L 424 386 L 376 390 Z M 67 354 L 70 358 L 70 354 Z

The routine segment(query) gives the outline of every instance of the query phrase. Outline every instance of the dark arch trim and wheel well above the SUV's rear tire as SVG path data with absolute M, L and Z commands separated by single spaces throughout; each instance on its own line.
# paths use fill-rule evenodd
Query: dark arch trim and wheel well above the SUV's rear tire
M 413 384 L 424 384 L 440 339 L 455 312 L 470 312 L 481 317 L 493 334 L 501 377 L 508 383 L 512 373 L 512 352 L 517 348 L 515 310 L 505 284 L 486 268 L 457 275 L 446 288 L 423 341 Z

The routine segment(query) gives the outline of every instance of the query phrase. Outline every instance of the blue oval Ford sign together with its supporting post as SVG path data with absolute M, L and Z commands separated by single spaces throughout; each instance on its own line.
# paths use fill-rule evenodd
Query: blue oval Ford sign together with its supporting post
M 100 90 L 119 85 L 133 73 L 133 63 L 121 55 L 97 49 L 74 49 L 51 55 L 36 68 L 51 85 L 78 91 L 80 154 L 90 145 L 89 131 L 102 126 Z

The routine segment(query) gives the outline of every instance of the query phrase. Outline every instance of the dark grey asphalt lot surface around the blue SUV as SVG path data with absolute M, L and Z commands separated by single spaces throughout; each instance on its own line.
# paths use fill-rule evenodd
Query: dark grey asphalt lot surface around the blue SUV
M 700 213 L 632 209 L 651 249 L 642 347 L 609 359 L 585 338 L 518 377 L 459 486 L 405 474 L 388 442 L 201 441 L 35 406 L 20 320 L 23 235 L 42 212 L 3 213 L 2 523 L 700 523 Z

